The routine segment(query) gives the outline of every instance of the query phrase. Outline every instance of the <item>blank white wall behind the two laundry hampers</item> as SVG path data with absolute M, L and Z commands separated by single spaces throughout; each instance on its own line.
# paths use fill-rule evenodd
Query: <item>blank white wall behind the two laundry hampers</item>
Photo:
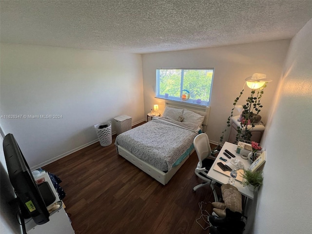
M 133 123 L 145 117 L 141 55 L 1 43 L 0 56 L 0 124 L 31 168 L 96 142 L 99 122 L 121 114 Z

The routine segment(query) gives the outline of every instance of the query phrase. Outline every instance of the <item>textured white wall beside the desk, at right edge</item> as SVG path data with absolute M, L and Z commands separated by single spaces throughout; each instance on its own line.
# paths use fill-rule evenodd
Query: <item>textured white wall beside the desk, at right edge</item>
M 255 234 L 311 234 L 312 20 L 292 39 L 263 145 Z

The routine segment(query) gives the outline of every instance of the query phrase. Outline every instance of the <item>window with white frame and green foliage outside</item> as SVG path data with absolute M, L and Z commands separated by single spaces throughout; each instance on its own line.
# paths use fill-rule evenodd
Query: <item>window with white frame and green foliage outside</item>
M 214 69 L 156 69 L 156 98 L 209 105 Z

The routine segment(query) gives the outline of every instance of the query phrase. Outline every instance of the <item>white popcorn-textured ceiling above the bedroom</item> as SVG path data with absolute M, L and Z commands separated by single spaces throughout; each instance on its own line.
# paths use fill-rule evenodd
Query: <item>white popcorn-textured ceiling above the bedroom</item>
M 151 53 L 292 38 L 312 0 L 0 1 L 1 42 Z

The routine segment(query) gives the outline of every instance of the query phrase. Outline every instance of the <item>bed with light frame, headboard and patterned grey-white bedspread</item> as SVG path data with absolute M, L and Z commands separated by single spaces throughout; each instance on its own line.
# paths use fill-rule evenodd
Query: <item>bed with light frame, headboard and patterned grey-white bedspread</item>
M 165 185 L 194 152 L 193 140 L 206 131 L 210 107 L 166 101 L 154 117 L 116 137 L 117 153 Z

